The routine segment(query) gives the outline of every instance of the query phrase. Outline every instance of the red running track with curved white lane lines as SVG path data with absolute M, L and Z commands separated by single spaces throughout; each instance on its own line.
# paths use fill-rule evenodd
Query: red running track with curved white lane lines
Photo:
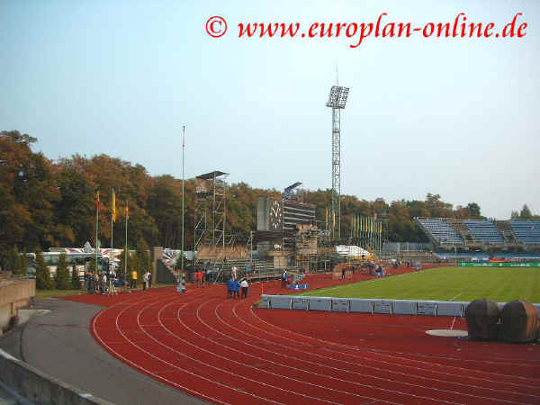
M 265 293 L 285 293 L 279 283 Z M 466 329 L 452 317 L 257 309 L 260 284 L 249 290 L 247 300 L 225 298 L 223 285 L 67 299 L 106 307 L 91 331 L 112 356 L 213 403 L 540 404 L 536 344 L 425 333 Z

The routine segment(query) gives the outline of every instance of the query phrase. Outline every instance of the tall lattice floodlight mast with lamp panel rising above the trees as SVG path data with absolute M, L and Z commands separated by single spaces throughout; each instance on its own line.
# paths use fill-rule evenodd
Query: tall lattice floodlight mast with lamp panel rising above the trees
M 332 109 L 332 208 L 330 232 L 333 240 L 341 238 L 341 110 L 347 103 L 349 88 L 332 85 L 327 107 Z M 336 223 L 337 222 L 337 223 Z M 336 229 L 338 225 L 338 229 Z

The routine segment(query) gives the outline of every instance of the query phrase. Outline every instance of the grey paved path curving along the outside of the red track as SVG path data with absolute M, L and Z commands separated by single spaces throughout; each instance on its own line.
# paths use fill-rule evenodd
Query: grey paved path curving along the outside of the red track
M 33 308 L 50 312 L 0 339 L 0 348 L 12 356 L 119 405 L 206 403 L 140 374 L 95 343 L 89 325 L 102 307 L 44 299 L 37 300 Z M 0 403 L 11 402 L 0 392 Z

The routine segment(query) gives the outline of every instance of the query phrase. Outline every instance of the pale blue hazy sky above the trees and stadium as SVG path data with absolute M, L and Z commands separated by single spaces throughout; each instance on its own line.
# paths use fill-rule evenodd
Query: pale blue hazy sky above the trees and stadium
M 239 23 L 495 23 L 518 38 L 238 38 Z M 227 21 L 220 38 L 207 21 Z M 463 21 L 463 19 L 461 20 Z M 0 2 L 0 130 L 46 157 L 105 153 L 182 177 L 331 188 L 329 90 L 341 193 L 540 213 L 540 2 Z M 211 26 L 218 31 L 221 25 Z M 383 28 L 381 28 L 382 30 Z M 352 32 L 352 31 L 350 31 Z

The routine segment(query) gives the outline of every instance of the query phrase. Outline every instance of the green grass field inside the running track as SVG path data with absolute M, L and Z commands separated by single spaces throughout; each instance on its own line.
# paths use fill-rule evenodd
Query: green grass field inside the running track
M 301 295 L 338 298 L 387 298 L 470 302 L 540 302 L 540 268 L 440 267 Z

